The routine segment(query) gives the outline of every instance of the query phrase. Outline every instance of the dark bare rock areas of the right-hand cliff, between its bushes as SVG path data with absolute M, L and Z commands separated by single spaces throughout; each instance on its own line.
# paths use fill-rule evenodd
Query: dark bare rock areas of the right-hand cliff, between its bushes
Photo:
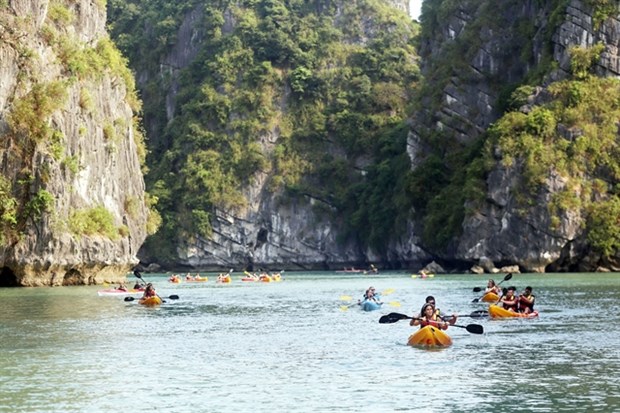
M 422 53 L 429 65 L 439 59 L 441 50 L 449 48 L 459 36 L 471 36 L 470 25 L 478 25 L 476 13 L 490 2 L 462 2 L 451 18 L 438 23 L 439 33 L 432 37 Z M 420 136 L 425 128 L 437 127 L 462 143 L 472 142 L 498 117 L 499 94 L 489 88 L 492 82 L 519 83 L 528 71 L 540 62 L 545 46 L 545 33 L 552 33 L 553 60 L 558 68 L 549 81 L 565 78 L 570 70 L 568 50 L 573 46 L 592 47 L 605 45 L 602 58 L 595 72 L 600 76 L 620 75 L 618 47 L 619 16 L 611 16 L 595 27 L 592 10 L 584 2 L 573 0 L 566 8 L 566 16 L 557 27 L 550 27 L 549 4 L 536 2 L 513 3 L 501 8 L 495 28 L 478 27 L 479 47 L 462 71 L 455 74 L 442 91 L 442 104 L 436 113 L 420 113 L 418 119 L 433 119 L 434 123 L 419 122 L 412 129 L 409 153 L 414 163 L 423 156 Z M 492 6 L 489 6 L 492 7 Z M 480 8 L 480 9 L 479 9 Z M 516 42 L 516 27 L 512 22 L 534 22 L 534 33 L 523 50 Z M 475 24 L 474 24 L 475 23 Z M 512 52 L 511 52 L 512 51 Z M 518 53 L 514 53 L 518 51 Z M 529 64 L 519 61 L 529 55 Z M 539 90 L 540 92 L 540 90 Z M 534 97 L 536 99 L 536 97 Z M 560 225 L 551 225 L 547 205 L 554 194 L 564 189 L 561 177 L 550 174 L 544 190 L 524 209 L 518 205 L 513 191 L 522 179 L 519 170 L 504 168 L 499 162 L 488 175 L 486 201 L 482 208 L 468 216 L 463 223 L 463 235 L 456 240 L 456 247 L 446 258 L 477 262 L 487 257 L 502 265 L 517 264 L 525 271 L 546 270 L 595 271 L 600 266 L 615 268 L 613 262 L 601 258 L 587 248 L 583 234 L 584 217 L 579 212 L 564 213 Z

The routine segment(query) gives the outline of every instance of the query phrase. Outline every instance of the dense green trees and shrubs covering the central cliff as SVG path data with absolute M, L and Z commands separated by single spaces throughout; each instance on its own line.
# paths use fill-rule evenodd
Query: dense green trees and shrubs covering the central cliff
M 174 257 L 173 239 L 210 236 L 216 209 L 247 208 L 242 189 L 261 172 L 283 201 L 321 200 L 321 213 L 347 217 L 347 236 L 378 252 L 404 228 L 416 26 L 379 0 L 341 6 L 108 2 L 117 45 L 136 71 L 151 75 L 141 85 L 147 128 L 164 131 L 151 136 L 147 157 L 148 190 L 162 218 L 147 249 L 160 259 Z M 194 27 L 203 39 L 179 72 L 168 122 L 163 96 L 171 79 L 162 82 L 160 66 L 190 10 L 204 11 Z

